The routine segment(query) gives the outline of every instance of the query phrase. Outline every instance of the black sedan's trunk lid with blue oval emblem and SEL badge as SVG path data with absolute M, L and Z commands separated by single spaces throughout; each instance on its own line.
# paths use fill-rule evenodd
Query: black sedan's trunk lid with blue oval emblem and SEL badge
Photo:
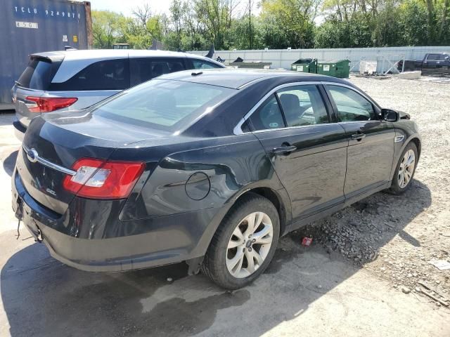
M 52 113 L 32 120 L 16 167 L 27 192 L 40 204 L 63 214 L 75 197 L 63 187 L 67 176 L 64 169 L 71 170 L 75 161 L 84 157 L 108 159 L 117 147 L 165 136 L 167 133 L 111 121 L 84 110 L 70 116 Z M 33 155 L 27 154 L 32 149 L 41 160 L 34 161 Z

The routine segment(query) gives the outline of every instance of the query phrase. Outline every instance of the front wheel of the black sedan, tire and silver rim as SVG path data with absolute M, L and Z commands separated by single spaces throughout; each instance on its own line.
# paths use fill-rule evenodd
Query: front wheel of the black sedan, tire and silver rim
M 413 153 L 414 161 L 413 161 L 413 164 L 411 164 L 408 167 L 408 169 L 405 169 L 404 163 L 407 162 L 407 158 L 406 158 L 406 157 L 408 157 L 408 156 L 406 156 L 407 153 L 409 153 L 409 154 Z M 401 152 L 399 162 L 397 163 L 397 166 L 395 166 L 395 173 L 392 178 L 392 185 L 389 188 L 389 190 L 387 190 L 387 192 L 389 192 L 390 194 L 399 195 L 399 194 L 403 194 L 404 192 L 409 190 L 409 187 L 411 187 L 411 182 L 413 181 L 414 173 L 416 172 L 417 161 L 418 161 L 417 147 L 416 147 L 416 144 L 411 142 L 408 145 L 406 145 L 403 152 Z M 411 166 L 412 166 L 412 168 L 411 168 Z M 408 173 L 409 180 L 407 182 L 406 182 L 406 180 L 403 180 L 403 183 L 402 183 L 401 177 L 406 177 L 404 172 L 409 172 Z

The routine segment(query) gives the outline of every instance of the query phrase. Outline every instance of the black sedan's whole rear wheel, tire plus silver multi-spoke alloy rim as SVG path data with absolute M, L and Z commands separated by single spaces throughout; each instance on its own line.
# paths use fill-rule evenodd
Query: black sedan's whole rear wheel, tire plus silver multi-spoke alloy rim
M 254 223 L 261 221 L 253 234 L 250 234 L 250 241 L 248 233 L 252 230 L 248 224 L 252 222 L 253 215 Z M 201 270 L 225 289 L 242 288 L 259 277 L 269 265 L 274 257 L 279 234 L 280 220 L 274 204 L 258 194 L 249 193 L 239 199 L 222 220 L 205 254 Z M 269 239 L 270 246 L 267 244 Z M 235 245 L 238 246 L 234 247 Z M 238 262 L 233 267 L 235 260 Z

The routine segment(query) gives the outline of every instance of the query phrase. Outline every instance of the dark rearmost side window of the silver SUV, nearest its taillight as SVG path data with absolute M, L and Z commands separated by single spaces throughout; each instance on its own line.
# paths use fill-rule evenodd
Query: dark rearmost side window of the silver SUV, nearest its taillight
M 51 91 L 124 90 L 129 88 L 127 58 L 94 62 L 63 83 L 52 83 Z

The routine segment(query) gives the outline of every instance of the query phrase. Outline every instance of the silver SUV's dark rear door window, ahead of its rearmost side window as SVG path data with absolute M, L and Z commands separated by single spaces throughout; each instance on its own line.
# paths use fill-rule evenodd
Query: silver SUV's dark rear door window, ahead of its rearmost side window
M 177 58 L 131 58 L 129 60 L 131 72 L 131 86 L 141 84 L 149 79 L 185 70 L 184 60 Z

